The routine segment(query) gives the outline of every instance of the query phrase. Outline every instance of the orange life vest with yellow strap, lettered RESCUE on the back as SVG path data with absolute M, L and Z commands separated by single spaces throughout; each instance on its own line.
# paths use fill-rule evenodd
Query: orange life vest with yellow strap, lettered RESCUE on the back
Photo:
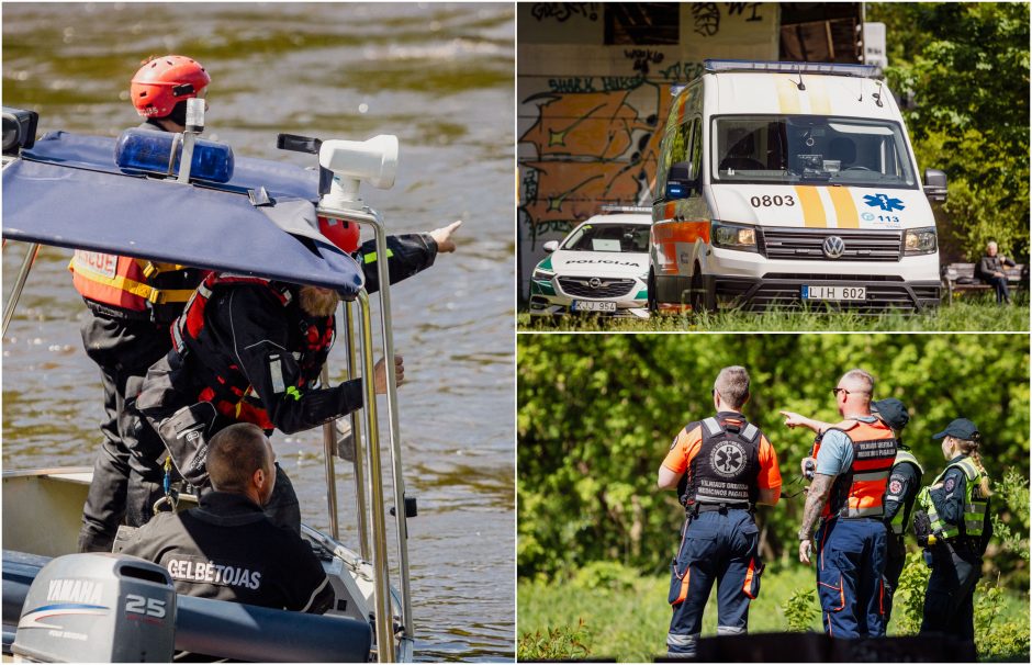
M 172 263 L 77 249 L 68 264 L 76 291 L 88 302 L 130 313 L 150 312 L 169 323 L 182 312 L 205 271 Z

